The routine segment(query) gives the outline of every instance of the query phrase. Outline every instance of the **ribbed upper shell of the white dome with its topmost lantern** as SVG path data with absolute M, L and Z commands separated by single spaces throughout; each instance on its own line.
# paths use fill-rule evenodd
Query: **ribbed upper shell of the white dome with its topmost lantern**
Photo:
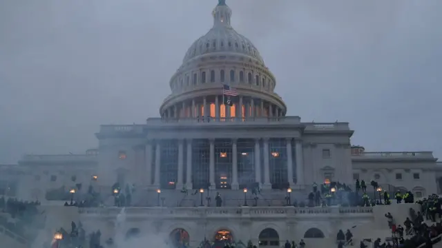
M 214 52 L 244 54 L 264 63 L 258 49 L 230 25 L 231 9 L 218 4 L 213 10 L 213 28 L 193 42 L 183 59 L 183 64 L 198 56 Z

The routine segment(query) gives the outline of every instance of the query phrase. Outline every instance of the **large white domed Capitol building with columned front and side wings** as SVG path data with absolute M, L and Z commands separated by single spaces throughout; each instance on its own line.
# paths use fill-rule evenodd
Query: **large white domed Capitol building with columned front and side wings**
M 17 165 L 0 165 L 0 194 L 54 207 L 48 192 L 78 184 L 86 192 L 92 185 L 108 196 L 105 205 L 113 205 L 113 185 L 130 185 L 135 207 L 126 210 L 126 229 L 185 230 L 193 245 L 201 237 L 229 236 L 280 247 L 278 240 L 335 238 L 337 229 L 385 222 L 383 211 L 371 207 L 348 214 L 284 207 L 287 194 L 305 200 L 314 183 L 353 187 L 356 179 L 368 186 L 375 180 L 389 192 L 416 197 L 441 192 L 442 164 L 432 152 L 366 152 L 352 144 L 349 123 L 287 116 L 290 106 L 277 94 L 277 75 L 233 29 L 232 10 L 219 1 L 212 14 L 213 28 L 191 44 L 171 76 L 160 117 L 101 125 L 98 147 L 85 154 L 25 155 Z M 258 199 L 251 193 L 256 185 Z M 217 193 L 222 207 L 214 207 Z M 255 200 L 255 207 L 244 207 Z M 99 226 L 104 239 L 115 234 L 110 223 L 119 209 L 65 209 L 64 216 L 86 228 Z

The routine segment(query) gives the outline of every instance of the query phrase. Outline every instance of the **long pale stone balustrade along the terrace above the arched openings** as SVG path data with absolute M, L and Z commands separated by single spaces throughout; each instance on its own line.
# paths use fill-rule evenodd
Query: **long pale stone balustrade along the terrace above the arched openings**
M 79 208 L 79 214 L 115 217 L 121 211 L 118 207 Z M 133 218 L 234 218 L 289 216 L 365 214 L 371 216 L 372 207 L 126 207 L 126 216 Z

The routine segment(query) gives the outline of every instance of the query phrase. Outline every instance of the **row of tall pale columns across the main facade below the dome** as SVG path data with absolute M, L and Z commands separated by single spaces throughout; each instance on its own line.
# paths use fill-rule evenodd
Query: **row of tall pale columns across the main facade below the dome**
M 270 189 L 270 167 L 269 167 L 269 138 L 262 138 L 263 144 L 263 174 L 261 176 L 261 159 L 260 159 L 260 140 L 261 138 L 255 139 L 254 147 L 254 171 L 255 171 L 255 181 L 260 183 L 263 189 Z M 293 180 L 293 158 L 292 158 L 292 146 L 291 141 L 293 138 L 287 138 L 287 182 L 289 185 L 294 185 Z M 237 139 L 232 139 L 232 180 L 231 188 L 238 189 L 238 149 L 237 149 Z M 186 145 L 186 180 L 184 181 L 184 143 Z M 153 145 L 155 145 L 155 161 L 152 165 L 152 155 L 153 155 Z M 209 183 L 210 188 L 215 189 L 215 139 L 209 139 Z M 146 144 L 146 171 L 148 172 L 148 180 L 146 182 L 147 186 L 150 187 L 160 187 L 160 166 L 161 166 L 161 143 L 158 141 L 149 141 Z M 295 152 L 296 152 L 296 185 L 304 185 L 304 162 L 302 157 L 302 141 L 295 139 Z M 151 179 L 152 168 L 155 166 L 155 175 L 153 177 L 153 182 Z M 263 178 L 263 180 L 262 180 Z M 192 189 L 192 139 L 180 139 L 178 140 L 178 161 L 177 161 L 177 182 L 176 189 L 182 189 L 186 185 L 187 189 Z

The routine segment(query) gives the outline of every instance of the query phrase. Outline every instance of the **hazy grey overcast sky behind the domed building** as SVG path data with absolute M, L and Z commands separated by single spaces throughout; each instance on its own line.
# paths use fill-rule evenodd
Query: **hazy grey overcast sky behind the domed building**
M 83 153 L 100 124 L 158 116 L 216 3 L 0 0 L 0 163 Z M 442 1 L 227 4 L 289 115 L 348 121 L 369 151 L 442 157 Z

